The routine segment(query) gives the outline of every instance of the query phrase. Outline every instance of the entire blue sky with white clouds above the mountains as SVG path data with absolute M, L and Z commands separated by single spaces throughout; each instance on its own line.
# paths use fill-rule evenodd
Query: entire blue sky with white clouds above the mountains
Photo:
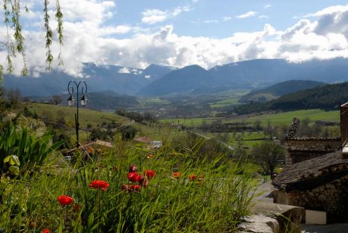
M 347 0 L 59 1 L 65 35 L 61 69 L 70 74 L 80 74 L 81 62 L 210 68 L 255 58 L 348 57 Z M 30 12 L 22 15 L 32 72 L 46 67 L 42 2 L 26 0 Z M 55 6 L 52 0 L 52 29 Z M 6 26 L 0 24 L 0 42 L 6 38 Z M 55 42 L 55 57 L 58 48 Z M 1 64 L 5 58 L 6 49 L 0 47 Z M 20 71 L 21 58 L 15 66 Z

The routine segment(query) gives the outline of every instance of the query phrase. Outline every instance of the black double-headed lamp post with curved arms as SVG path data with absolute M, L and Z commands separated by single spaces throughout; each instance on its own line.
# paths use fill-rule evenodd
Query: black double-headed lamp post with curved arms
M 76 81 L 72 80 L 68 83 L 68 93 L 70 94 L 70 97 L 68 98 L 68 105 L 69 106 L 74 106 L 75 104 L 75 99 L 74 99 L 74 86 L 76 86 L 76 95 L 77 95 L 77 111 L 75 113 L 75 131 L 76 131 L 76 146 L 79 147 L 79 87 L 80 84 L 82 84 L 80 90 L 82 93 L 82 97 L 80 99 L 81 101 L 81 106 L 86 106 L 87 104 L 87 97 L 85 94 L 87 93 L 87 84 L 85 81 L 79 81 L 77 83 Z

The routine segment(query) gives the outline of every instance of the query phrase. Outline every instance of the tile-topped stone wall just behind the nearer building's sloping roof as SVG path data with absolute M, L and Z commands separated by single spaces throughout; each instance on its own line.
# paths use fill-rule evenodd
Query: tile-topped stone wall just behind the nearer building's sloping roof
M 285 166 L 341 150 L 341 138 L 285 138 Z

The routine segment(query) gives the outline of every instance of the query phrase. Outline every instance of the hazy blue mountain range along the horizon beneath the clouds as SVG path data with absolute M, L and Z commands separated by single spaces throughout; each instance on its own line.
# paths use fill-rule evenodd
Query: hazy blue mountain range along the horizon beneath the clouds
M 83 63 L 82 74 L 90 92 L 111 90 L 119 95 L 209 94 L 237 88 L 262 88 L 291 79 L 325 83 L 348 81 L 348 59 L 311 60 L 290 63 L 281 59 L 258 59 L 219 65 L 205 70 L 198 65 L 178 69 L 150 65 L 142 69 L 118 65 Z M 6 88 L 19 88 L 22 95 L 64 94 L 72 75 L 54 70 L 39 77 L 4 76 Z M 80 79 L 78 79 L 80 80 Z

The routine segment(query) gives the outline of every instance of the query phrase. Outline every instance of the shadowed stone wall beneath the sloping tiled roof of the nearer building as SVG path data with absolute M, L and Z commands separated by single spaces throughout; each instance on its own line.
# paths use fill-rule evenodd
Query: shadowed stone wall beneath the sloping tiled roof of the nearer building
M 309 190 L 274 191 L 274 203 L 327 211 L 328 223 L 347 222 L 348 175 Z

